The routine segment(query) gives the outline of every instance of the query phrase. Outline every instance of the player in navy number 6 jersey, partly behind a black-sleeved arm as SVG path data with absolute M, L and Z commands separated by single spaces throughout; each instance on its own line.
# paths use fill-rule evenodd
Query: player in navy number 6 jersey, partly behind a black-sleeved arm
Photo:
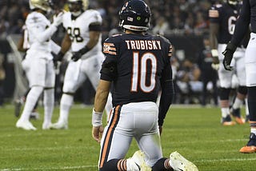
M 237 0 L 226 0 L 222 4 L 217 4 L 209 10 L 210 17 L 210 46 L 214 63 L 222 63 L 224 56 L 222 51 L 225 50 L 226 44 L 230 41 L 231 36 L 234 34 L 235 22 L 238 18 L 239 4 Z M 236 70 L 228 72 L 222 65 L 218 68 L 218 78 L 220 82 L 219 97 L 220 107 L 222 110 L 222 125 L 234 125 L 230 117 L 231 114 L 238 124 L 245 123 L 244 118 L 241 116 L 240 108 L 246 99 L 246 72 L 244 55 L 246 42 L 239 46 L 234 54 L 234 63 Z M 232 86 L 232 75 L 236 74 L 238 78 L 238 92 L 234 99 L 234 104 L 230 109 L 230 89 Z M 247 105 L 246 105 L 247 106 Z M 246 109 L 246 114 L 248 109 Z

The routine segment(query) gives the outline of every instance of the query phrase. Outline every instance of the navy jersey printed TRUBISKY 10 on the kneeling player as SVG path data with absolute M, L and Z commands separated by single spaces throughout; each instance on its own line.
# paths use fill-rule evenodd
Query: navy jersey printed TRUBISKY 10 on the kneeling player
M 172 78 L 172 46 L 161 36 L 118 34 L 106 39 L 101 79 L 113 82 L 113 105 L 156 101 L 162 82 Z M 103 66 L 113 66 L 114 74 Z

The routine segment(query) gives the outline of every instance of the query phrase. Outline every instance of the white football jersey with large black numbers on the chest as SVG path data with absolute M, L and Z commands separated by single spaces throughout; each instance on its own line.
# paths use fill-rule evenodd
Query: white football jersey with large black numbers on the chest
M 90 23 L 99 22 L 102 23 L 102 17 L 97 10 L 86 10 L 78 18 L 72 20 L 71 13 L 67 12 L 63 16 L 63 26 L 66 29 L 66 33 L 70 35 L 72 41 L 71 51 L 76 52 L 81 50 L 89 42 L 89 26 Z M 100 36 L 96 46 L 86 54 L 83 58 L 88 58 L 92 54 L 97 54 L 102 51 L 102 37 Z

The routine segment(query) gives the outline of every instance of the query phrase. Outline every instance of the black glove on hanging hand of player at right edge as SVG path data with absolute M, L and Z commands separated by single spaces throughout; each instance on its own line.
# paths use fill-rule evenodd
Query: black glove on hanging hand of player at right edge
M 233 67 L 230 66 L 230 63 L 233 58 L 234 51 L 237 49 L 237 46 L 234 46 L 231 42 L 229 42 L 226 45 L 226 50 L 222 52 L 224 55 L 224 60 L 223 60 L 223 66 L 225 70 L 233 70 Z

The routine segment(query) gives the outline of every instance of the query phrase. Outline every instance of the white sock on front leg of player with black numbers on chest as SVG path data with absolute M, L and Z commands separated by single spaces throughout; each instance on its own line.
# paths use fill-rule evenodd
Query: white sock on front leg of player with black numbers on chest
M 70 113 L 70 107 L 73 105 L 74 97 L 70 94 L 63 93 L 60 105 L 60 114 L 58 122 L 68 122 L 68 117 Z

